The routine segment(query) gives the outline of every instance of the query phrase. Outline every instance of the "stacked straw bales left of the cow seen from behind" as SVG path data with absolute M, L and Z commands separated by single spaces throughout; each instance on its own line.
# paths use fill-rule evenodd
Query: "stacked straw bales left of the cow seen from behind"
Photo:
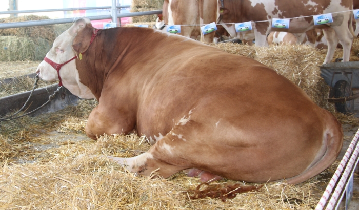
M 132 0 L 131 12 L 162 10 L 164 0 Z M 156 22 L 157 15 L 132 17 L 133 23 Z

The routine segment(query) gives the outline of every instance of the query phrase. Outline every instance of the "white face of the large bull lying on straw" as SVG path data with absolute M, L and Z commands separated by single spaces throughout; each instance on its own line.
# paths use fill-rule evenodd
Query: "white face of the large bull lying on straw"
M 82 28 L 84 28 L 86 24 L 91 25 L 91 22 L 88 18 L 81 18 L 76 20 L 76 22 L 71 26 L 71 28 L 63 32 L 55 39 L 52 48 L 46 54 L 46 58 L 56 64 L 64 64 L 65 62 L 71 60 L 74 56 L 79 56 L 78 54 L 75 54 L 74 49 L 79 52 L 86 51 L 86 46 L 76 45 L 74 46 L 74 49 L 72 48 L 72 42 L 73 39 L 76 37 L 77 32 L 79 30 L 82 30 Z M 87 39 L 86 37 L 83 38 Z M 88 43 L 90 43 L 90 40 L 88 40 Z M 67 64 L 62 66 L 59 73 L 57 73 L 56 69 L 51 66 L 49 62 L 44 60 L 37 67 L 36 73 L 39 74 L 40 78 L 46 81 L 59 80 L 59 75 L 61 77 L 64 87 L 67 88 L 72 94 L 86 99 L 95 98 L 90 89 L 87 86 L 83 85 L 83 83 L 81 83 L 78 71 L 76 69 L 75 60 L 71 60 Z

